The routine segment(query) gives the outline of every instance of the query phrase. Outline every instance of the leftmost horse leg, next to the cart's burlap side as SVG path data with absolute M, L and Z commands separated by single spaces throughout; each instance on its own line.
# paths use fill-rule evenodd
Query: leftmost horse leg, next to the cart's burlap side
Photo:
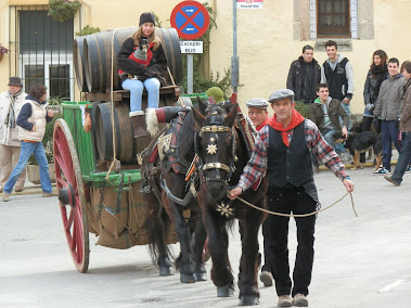
M 169 260 L 169 251 L 164 241 L 163 206 L 153 193 L 144 194 L 143 198 L 147 215 L 149 247 L 153 262 L 157 264 L 160 277 L 172 275 L 175 271 Z

